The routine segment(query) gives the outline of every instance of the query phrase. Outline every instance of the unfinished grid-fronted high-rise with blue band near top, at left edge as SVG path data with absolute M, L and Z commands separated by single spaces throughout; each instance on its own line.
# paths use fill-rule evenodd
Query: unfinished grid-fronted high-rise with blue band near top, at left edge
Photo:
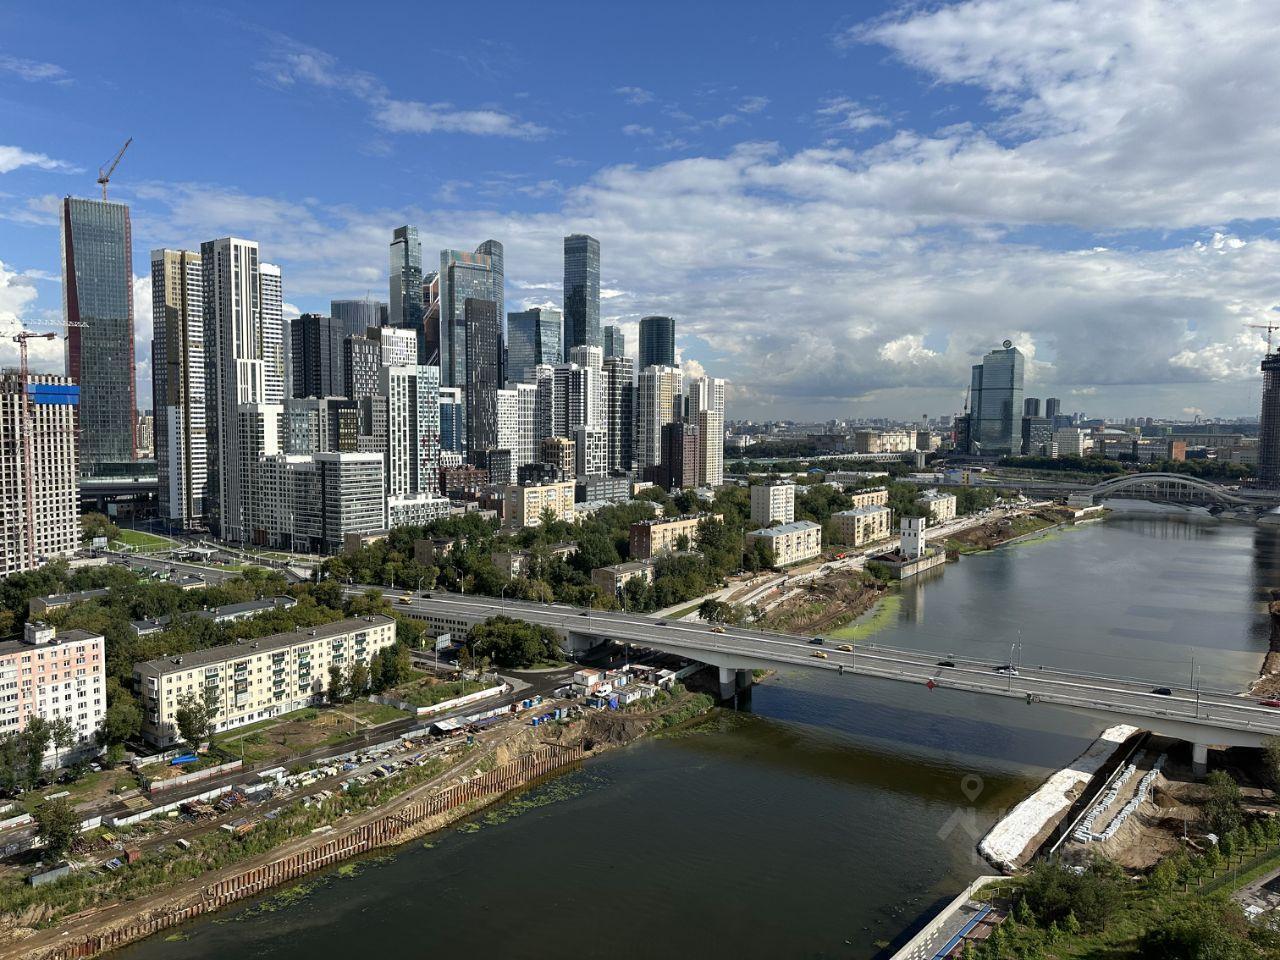
M 64 376 L 31 374 L 24 385 L 20 374 L 0 374 L 0 576 L 79 548 L 79 397 Z

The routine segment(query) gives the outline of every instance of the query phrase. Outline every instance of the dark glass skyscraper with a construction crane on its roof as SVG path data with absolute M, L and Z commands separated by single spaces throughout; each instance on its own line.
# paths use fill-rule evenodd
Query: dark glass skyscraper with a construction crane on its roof
M 61 239 L 67 376 L 81 388 L 79 466 L 91 474 L 136 456 L 129 207 L 65 197 Z

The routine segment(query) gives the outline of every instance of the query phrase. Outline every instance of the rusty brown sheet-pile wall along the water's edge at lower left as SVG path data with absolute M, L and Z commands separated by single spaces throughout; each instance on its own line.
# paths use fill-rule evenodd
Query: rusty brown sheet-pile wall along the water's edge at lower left
M 219 879 L 200 890 L 193 897 L 154 911 L 140 911 L 129 920 L 99 933 L 81 936 L 49 947 L 36 947 L 22 955 L 23 960 L 78 960 L 105 954 L 115 947 L 150 937 L 152 933 L 175 927 L 237 900 L 256 896 L 280 883 L 288 883 L 314 870 L 367 852 L 380 846 L 390 846 L 428 828 L 439 828 L 448 822 L 445 814 L 458 812 L 479 800 L 493 799 L 538 780 L 553 771 L 582 759 L 581 748 L 545 748 L 525 754 L 511 763 L 472 777 L 439 794 L 415 800 L 385 817 L 351 832 L 332 837 L 325 842 L 300 850 L 289 856 Z

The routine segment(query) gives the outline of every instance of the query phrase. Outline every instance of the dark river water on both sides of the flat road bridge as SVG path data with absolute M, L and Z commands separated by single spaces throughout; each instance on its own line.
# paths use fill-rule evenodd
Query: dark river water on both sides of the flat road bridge
M 876 643 L 1239 689 L 1280 535 L 1121 507 L 909 584 Z M 749 713 L 591 760 L 425 844 L 128 960 L 870 957 L 1097 735 L 1044 705 L 785 671 Z

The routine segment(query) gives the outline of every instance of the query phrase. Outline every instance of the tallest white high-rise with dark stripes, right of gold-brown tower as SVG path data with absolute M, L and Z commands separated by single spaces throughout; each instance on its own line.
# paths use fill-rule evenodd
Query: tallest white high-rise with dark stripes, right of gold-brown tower
M 274 453 L 280 404 L 266 404 L 262 342 L 262 289 L 255 241 L 224 237 L 200 244 L 205 320 L 205 396 L 209 430 L 211 529 L 223 539 L 244 540 L 246 504 L 255 480 L 247 465 L 261 451 Z M 241 410 L 251 422 L 241 422 Z M 250 428 L 253 428 L 252 430 Z M 259 431 L 262 431 L 261 435 Z

